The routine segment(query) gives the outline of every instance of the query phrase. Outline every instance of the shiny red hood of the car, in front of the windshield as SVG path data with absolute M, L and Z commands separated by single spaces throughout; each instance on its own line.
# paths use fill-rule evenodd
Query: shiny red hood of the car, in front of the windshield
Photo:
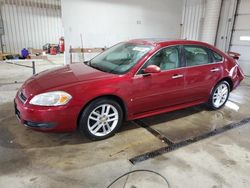
M 77 63 L 38 73 L 24 83 L 22 90 L 26 96 L 29 96 L 77 82 L 87 82 L 114 76 L 116 75 L 96 70 L 83 63 Z

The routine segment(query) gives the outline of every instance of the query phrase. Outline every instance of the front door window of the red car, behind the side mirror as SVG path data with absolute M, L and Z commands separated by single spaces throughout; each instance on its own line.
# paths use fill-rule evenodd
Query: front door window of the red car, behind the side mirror
M 162 71 L 180 67 L 179 48 L 175 46 L 160 50 L 143 65 L 138 73 L 143 74 L 143 70 L 149 65 L 156 65 Z

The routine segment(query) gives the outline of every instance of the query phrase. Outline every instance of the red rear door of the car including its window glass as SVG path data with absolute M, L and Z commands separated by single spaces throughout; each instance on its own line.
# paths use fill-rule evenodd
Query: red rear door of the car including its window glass
M 188 102 L 208 99 L 211 89 L 221 79 L 223 58 L 199 45 L 184 45 L 186 60 L 185 98 Z

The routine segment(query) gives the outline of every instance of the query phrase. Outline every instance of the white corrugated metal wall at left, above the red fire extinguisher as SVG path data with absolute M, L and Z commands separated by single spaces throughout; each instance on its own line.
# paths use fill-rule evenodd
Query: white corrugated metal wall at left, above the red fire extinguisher
M 4 51 L 20 53 L 58 43 L 63 34 L 59 0 L 2 0 Z

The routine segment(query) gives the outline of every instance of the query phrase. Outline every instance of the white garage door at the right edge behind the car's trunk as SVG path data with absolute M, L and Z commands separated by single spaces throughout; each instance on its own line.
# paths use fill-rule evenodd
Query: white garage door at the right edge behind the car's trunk
M 250 76 L 250 1 L 241 0 L 235 21 L 231 51 L 241 54 L 240 64 L 245 75 Z

